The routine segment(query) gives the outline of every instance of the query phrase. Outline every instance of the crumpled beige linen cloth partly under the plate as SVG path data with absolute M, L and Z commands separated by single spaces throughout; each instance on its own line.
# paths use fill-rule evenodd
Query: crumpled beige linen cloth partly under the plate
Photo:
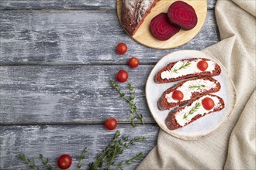
M 256 169 L 255 3 L 218 0 L 215 12 L 222 40 L 203 50 L 223 63 L 237 89 L 227 123 L 197 141 L 160 130 L 157 145 L 137 169 Z

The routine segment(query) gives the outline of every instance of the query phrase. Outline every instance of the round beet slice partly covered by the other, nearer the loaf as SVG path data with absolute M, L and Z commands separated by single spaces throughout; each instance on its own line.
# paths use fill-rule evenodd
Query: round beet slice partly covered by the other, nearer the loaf
M 150 22 L 150 32 L 152 35 L 161 41 L 165 41 L 179 32 L 179 28 L 171 26 L 167 20 L 167 13 L 160 13 Z

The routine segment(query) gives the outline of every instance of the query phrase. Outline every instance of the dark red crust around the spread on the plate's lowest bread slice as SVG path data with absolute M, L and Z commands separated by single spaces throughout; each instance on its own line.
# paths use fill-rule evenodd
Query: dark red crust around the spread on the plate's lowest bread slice
M 208 114 L 211 114 L 213 112 L 216 112 L 216 111 L 220 111 L 220 110 L 223 110 L 223 108 L 225 107 L 225 104 L 224 104 L 224 101 L 221 97 L 218 97 L 216 95 L 213 95 L 213 94 L 208 94 L 209 96 L 212 96 L 212 97 L 217 97 L 219 100 L 220 100 L 220 104 L 221 106 L 220 107 L 217 107 L 217 108 L 214 108 L 213 111 L 210 111 Z M 188 104 L 186 104 L 185 106 L 183 107 L 178 107 L 176 110 L 171 110 L 171 112 L 168 114 L 168 117 L 166 117 L 165 119 L 165 125 L 167 126 L 167 128 L 171 131 L 177 129 L 177 128 L 182 128 L 188 124 L 191 124 L 193 121 L 196 121 L 198 120 L 200 117 L 203 117 L 206 115 L 206 113 L 200 115 L 196 115 L 195 117 L 192 118 L 191 121 L 189 121 L 188 123 L 186 123 L 184 126 L 181 126 L 177 123 L 176 119 L 175 119 L 175 115 L 178 113 L 179 110 L 182 110 L 184 109 L 185 107 L 189 107 L 191 106 L 191 104 L 195 101 L 195 100 L 198 100 L 199 98 L 201 97 L 204 97 L 204 96 L 200 96 L 200 97 L 197 97 L 195 98 L 194 100 L 191 100 Z

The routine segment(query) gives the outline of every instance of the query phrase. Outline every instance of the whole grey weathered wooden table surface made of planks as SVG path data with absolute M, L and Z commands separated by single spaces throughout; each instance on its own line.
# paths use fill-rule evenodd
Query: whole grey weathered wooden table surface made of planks
M 41 169 L 38 154 L 57 168 L 57 158 L 67 153 L 73 156 L 75 169 L 87 146 L 85 168 L 115 133 L 102 125 L 108 117 L 116 117 L 122 134 L 147 138 L 117 162 L 140 151 L 147 155 L 159 130 L 145 99 L 147 76 L 168 53 L 200 50 L 220 40 L 215 3 L 208 0 L 205 25 L 194 39 L 160 50 L 141 46 L 126 35 L 116 16 L 116 0 L 0 0 L 0 169 L 27 169 L 17 158 L 19 153 L 35 158 Z M 119 42 L 129 48 L 123 56 L 115 51 Z M 140 59 L 135 70 L 126 65 L 130 56 Z M 145 125 L 135 129 L 130 125 L 130 106 L 109 86 L 109 79 L 121 69 L 130 73 L 135 102 L 144 115 Z M 128 93 L 127 83 L 119 85 Z

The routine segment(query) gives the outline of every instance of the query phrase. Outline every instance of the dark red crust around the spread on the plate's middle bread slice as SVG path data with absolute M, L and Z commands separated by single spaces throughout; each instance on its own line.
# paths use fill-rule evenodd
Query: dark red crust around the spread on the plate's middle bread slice
M 177 83 L 173 87 L 170 87 L 170 88 L 168 88 L 168 90 L 164 91 L 164 93 L 162 94 L 162 96 L 160 97 L 160 99 L 157 102 L 158 109 L 159 110 L 167 110 L 167 109 L 170 109 L 171 107 L 176 107 L 178 105 L 188 103 L 189 100 L 182 100 L 182 101 L 177 100 L 177 102 L 175 102 L 175 103 L 168 103 L 168 100 L 165 98 L 165 95 L 175 91 L 176 89 L 178 89 L 178 87 L 182 87 L 182 85 L 184 83 L 186 83 L 188 81 L 191 81 L 191 80 L 210 80 L 210 81 L 212 81 L 216 84 L 216 87 L 211 88 L 209 90 L 205 90 L 201 93 L 200 92 L 193 92 L 192 97 L 189 100 L 193 100 L 196 97 L 199 97 L 201 95 L 205 95 L 205 94 L 208 94 L 208 93 L 216 93 L 221 88 L 220 82 L 218 82 L 217 80 L 213 79 L 213 77 L 210 77 L 210 76 L 203 76 L 203 77 L 199 76 L 199 77 L 194 77 L 194 78 L 191 78 L 191 79 L 188 79 L 188 80 L 183 80 L 182 82 Z

